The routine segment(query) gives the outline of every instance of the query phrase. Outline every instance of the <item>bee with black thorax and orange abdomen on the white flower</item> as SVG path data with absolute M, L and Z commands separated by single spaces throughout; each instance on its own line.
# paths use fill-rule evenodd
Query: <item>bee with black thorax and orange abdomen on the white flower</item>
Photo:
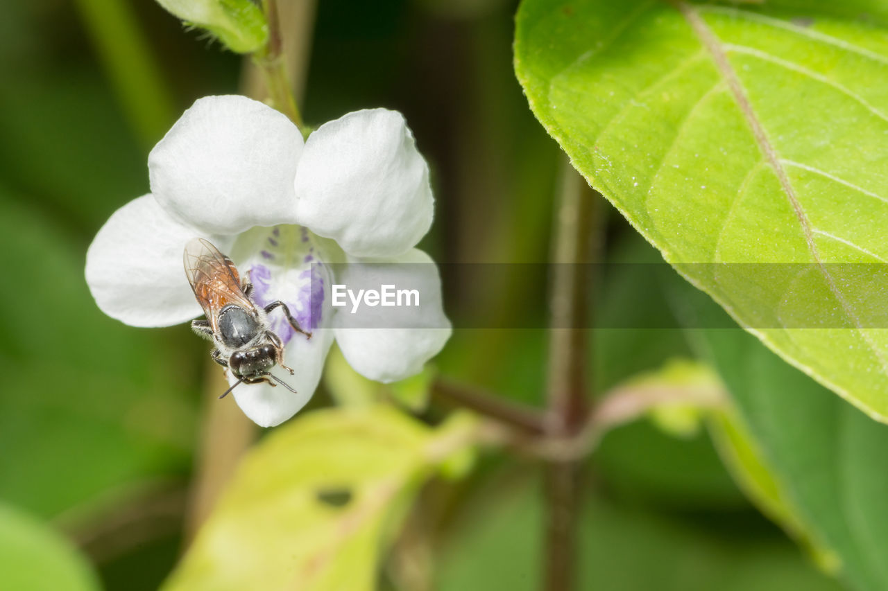
M 192 320 L 191 328 L 216 345 L 210 357 L 237 378 L 237 382 L 219 398 L 225 398 L 242 382 L 266 382 L 272 386 L 277 382 L 295 394 L 296 390 L 271 373 L 275 365 L 286 369 L 290 375 L 293 370 L 283 364 L 283 343 L 271 330 L 268 315 L 281 308 L 290 326 L 298 333 L 306 338 L 312 338 L 312 334 L 299 326 L 286 303 L 278 300 L 265 307 L 253 303 L 250 273 L 241 279 L 232 260 L 210 241 L 202 238 L 189 240 L 184 260 L 188 283 L 206 315 L 206 319 Z

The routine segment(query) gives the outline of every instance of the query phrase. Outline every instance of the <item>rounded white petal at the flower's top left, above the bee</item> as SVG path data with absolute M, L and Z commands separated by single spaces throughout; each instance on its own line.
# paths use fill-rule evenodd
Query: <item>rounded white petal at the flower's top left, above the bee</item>
M 173 217 L 234 234 L 291 223 L 302 135 L 251 98 L 199 98 L 148 155 L 151 191 Z

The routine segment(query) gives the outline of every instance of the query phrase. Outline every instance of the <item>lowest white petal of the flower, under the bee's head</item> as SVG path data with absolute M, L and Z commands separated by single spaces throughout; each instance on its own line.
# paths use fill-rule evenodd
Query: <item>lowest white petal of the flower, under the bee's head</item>
M 274 427 L 286 421 L 312 398 L 314 390 L 321 381 L 321 371 L 330 344 L 333 343 L 333 331 L 329 328 L 316 329 L 311 340 L 303 335 L 296 335 L 284 348 L 284 363 L 292 367 L 295 374 L 275 366 L 272 373 L 289 384 L 296 394 L 278 385 L 274 388 L 266 383 L 241 384 L 234 390 L 234 400 L 241 407 L 243 414 L 261 427 Z M 229 372 L 230 374 L 230 372 Z M 229 375 L 228 383 L 235 380 Z

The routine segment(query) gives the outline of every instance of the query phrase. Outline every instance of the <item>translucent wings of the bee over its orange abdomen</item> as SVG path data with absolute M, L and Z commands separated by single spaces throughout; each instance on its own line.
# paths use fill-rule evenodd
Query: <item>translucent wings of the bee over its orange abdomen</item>
M 241 276 L 230 258 L 219 252 L 209 240 L 194 238 L 185 245 L 185 275 L 210 320 L 213 332 L 218 329 L 218 314 L 229 303 L 253 311 L 256 305 L 244 295 Z

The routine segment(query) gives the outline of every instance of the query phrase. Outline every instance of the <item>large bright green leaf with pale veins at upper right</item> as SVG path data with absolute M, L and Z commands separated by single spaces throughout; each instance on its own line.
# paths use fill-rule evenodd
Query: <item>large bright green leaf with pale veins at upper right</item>
M 886 21 L 875 1 L 525 0 L 515 43 L 531 108 L 591 184 L 741 326 L 882 421 L 878 265 L 825 263 L 888 260 Z M 825 324 L 791 328 L 805 321 Z

